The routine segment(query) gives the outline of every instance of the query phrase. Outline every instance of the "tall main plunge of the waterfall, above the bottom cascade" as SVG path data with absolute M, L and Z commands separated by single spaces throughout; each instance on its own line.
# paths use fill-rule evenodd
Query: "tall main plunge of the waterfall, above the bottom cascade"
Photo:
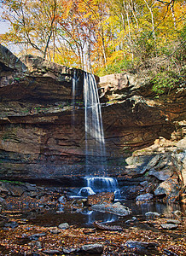
M 96 87 L 95 76 L 84 73 L 84 128 L 85 128 L 85 155 L 87 176 L 99 173 L 105 176 L 107 161 L 105 139 L 102 128 L 102 112 Z M 93 165 L 99 166 L 94 170 Z M 99 163 L 99 165 L 97 165 Z

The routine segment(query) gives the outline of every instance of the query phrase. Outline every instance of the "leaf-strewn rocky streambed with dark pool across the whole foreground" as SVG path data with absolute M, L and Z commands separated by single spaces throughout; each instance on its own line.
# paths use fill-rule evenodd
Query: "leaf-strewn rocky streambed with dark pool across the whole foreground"
M 1 255 L 185 255 L 183 205 L 7 181 L 0 190 Z

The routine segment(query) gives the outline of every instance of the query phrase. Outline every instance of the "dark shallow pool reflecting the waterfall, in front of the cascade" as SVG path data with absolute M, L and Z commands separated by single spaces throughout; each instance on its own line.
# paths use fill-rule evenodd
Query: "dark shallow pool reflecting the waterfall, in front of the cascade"
M 120 217 L 112 213 L 96 212 L 85 208 L 83 212 L 36 213 L 29 219 L 29 222 L 40 226 L 57 226 L 67 222 L 70 225 L 76 225 L 78 227 L 92 227 L 94 221 L 110 224 L 125 224 L 125 221 L 132 217 L 136 217 L 138 220 L 143 220 L 146 219 L 145 212 L 159 212 L 165 214 L 166 218 L 173 218 L 173 211 L 179 210 L 184 212 L 184 206 L 180 204 L 166 205 L 160 202 L 155 202 L 137 205 L 135 201 L 121 201 L 121 203 L 131 209 L 130 215 Z

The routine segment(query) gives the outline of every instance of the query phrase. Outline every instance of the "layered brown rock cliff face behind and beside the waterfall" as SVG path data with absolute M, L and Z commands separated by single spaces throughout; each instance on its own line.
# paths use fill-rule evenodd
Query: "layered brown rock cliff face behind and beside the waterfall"
M 78 79 L 73 123 L 74 71 Z M 83 78 L 81 70 L 32 55 L 18 59 L 0 46 L 1 179 L 49 179 L 70 184 L 79 183 L 78 178 L 84 177 Z M 135 151 L 151 147 L 150 154 L 141 161 L 142 171 L 160 148 L 159 145 L 152 149 L 155 140 L 157 143 L 163 137 L 177 148 L 177 141 L 185 135 L 185 90 L 180 87 L 166 98 L 154 99 L 143 73 L 96 79 L 102 102 L 108 175 L 120 177 L 123 185 L 126 175 L 133 173 L 133 183 L 140 183 L 146 172 L 138 172 L 136 160 L 127 166 L 127 159 L 132 155 L 135 159 Z

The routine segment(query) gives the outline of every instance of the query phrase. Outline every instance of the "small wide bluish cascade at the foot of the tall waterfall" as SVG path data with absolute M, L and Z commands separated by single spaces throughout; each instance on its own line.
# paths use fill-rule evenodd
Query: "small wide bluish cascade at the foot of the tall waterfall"
M 118 181 L 113 177 L 84 177 L 86 187 L 79 190 L 78 195 L 88 196 L 101 192 L 113 192 L 115 199 L 120 198 Z

